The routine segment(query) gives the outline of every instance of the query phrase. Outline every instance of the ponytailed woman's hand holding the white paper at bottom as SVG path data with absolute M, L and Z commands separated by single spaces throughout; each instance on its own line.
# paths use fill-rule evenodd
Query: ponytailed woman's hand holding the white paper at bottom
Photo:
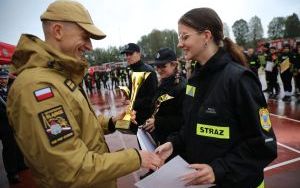
M 182 181 L 187 182 L 187 186 L 211 184 L 215 182 L 215 174 L 211 166 L 207 164 L 192 164 L 189 167 L 197 171 L 181 177 Z

